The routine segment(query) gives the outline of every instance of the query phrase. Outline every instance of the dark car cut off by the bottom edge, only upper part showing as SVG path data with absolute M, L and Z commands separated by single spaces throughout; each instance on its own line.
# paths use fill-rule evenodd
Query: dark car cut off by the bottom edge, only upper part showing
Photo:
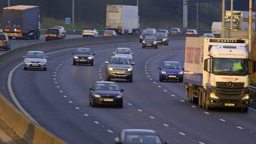
M 117 134 L 115 143 L 127 144 L 168 144 L 168 141 L 162 142 L 160 136 L 154 130 L 145 129 L 125 129 Z

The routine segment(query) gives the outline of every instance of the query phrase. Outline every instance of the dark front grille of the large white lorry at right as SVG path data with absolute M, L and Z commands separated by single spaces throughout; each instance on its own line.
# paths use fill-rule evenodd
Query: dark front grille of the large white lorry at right
M 228 83 L 229 82 L 216 82 L 217 95 L 224 98 L 242 97 L 244 83 L 232 83 L 233 87 Z

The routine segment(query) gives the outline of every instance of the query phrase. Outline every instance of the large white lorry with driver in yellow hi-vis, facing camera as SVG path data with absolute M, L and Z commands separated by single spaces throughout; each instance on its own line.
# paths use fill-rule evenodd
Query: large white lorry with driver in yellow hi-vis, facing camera
M 248 40 L 186 38 L 184 83 L 188 100 L 209 110 L 235 107 L 248 111 Z

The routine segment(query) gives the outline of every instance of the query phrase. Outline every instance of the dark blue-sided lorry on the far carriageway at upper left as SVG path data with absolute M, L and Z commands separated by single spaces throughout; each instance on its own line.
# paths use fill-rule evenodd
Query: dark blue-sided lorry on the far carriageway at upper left
M 15 5 L 3 8 L 3 33 L 10 39 L 40 38 L 39 7 L 33 5 Z

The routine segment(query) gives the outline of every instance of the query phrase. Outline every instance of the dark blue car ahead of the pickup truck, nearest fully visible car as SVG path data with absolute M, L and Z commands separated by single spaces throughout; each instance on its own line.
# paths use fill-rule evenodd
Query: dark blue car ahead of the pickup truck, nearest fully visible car
M 96 81 L 94 86 L 89 89 L 89 105 L 113 105 L 123 108 L 123 94 L 115 82 Z

